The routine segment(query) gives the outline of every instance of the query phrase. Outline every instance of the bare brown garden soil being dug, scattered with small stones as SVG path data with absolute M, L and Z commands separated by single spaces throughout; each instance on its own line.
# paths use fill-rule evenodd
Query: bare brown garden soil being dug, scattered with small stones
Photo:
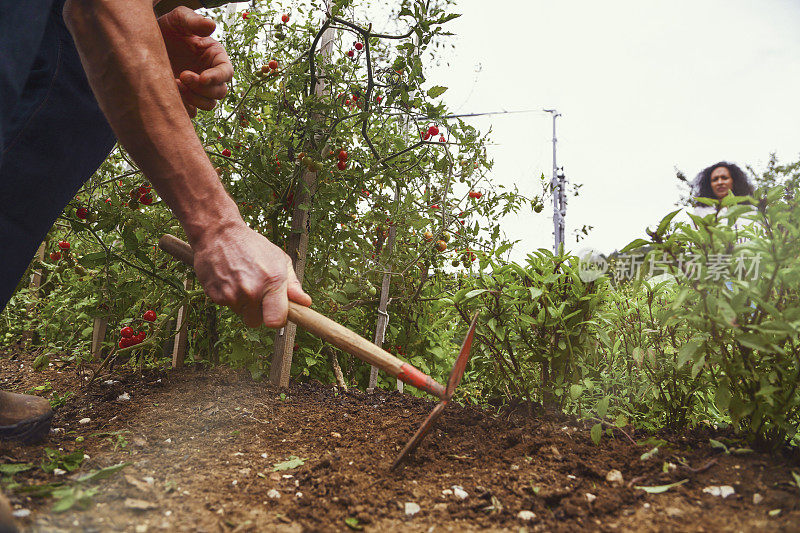
M 122 374 L 87 389 L 71 367 L 33 372 L 31 362 L 25 353 L 0 358 L 0 387 L 24 392 L 49 381 L 75 395 L 56 413 L 61 431 L 35 446 L 0 445 L 2 462 L 39 464 L 50 447 L 83 448 L 90 459 L 77 474 L 131 464 L 97 484 L 86 510 L 54 514 L 49 499 L 10 494 L 15 509 L 32 511 L 20 520 L 25 530 L 349 531 L 345 520 L 353 518 L 367 532 L 800 530 L 796 465 L 760 453 L 725 455 L 702 432 L 668 438 L 643 461 L 648 447 L 621 433 L 594 446 L 588 426 L 568 417 L 452 405 L 411 461 L 389 471 L 434 403 L 318 383 L 282 395 L 225 368 Z M 117 400 L 123 393 L 129 401 Z M 79 424 L 85 417 L 91 422 Z M 116 448 L 116 436 L 92 436 L 120 431 Z M 304 464 L 273 472 L 290 456 Z M 622 486 L 606 480 L 612 469 Z M 38 468 L 15 476 L 28 484 L 63 479 Z M 683 479 L 663 494 L 635 488 Z M 466 499 L 443 494 L 454 485 Z M 735 494 L 703 492 L 712 485 Z M 270 498 L 271 489 L 280 498 Z M 132 509 L 132 500 L 149 509 Z M 420 511 L 407 516 L 406 503 Z M 521 520 L 523 510 L 535 517 Z

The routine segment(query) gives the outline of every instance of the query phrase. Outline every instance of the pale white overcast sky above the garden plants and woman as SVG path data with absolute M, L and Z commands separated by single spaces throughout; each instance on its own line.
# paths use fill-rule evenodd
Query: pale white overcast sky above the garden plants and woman
M 604 252 L 675 209 L 675 168 L 757 170 L 800 158 L 800 2 L 460 0 L 454 49 L 430 81 L 455 112 L 557 108 L 558 161 L 582 183 L 567 244 Z M 470 119 L 493 129 L 493 179 L 540 190 L 552 168 L 544 113 Z M 504 224 L 514 259 L 552 248 L 552 209 Z M 572 231 L 594 226 L 576 244 Z

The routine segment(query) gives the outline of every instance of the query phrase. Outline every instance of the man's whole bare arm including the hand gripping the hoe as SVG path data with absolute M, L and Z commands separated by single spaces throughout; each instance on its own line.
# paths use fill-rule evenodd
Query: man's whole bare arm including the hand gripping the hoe
M 310 305 L 291 260 L 244 223 L 222 187 L 183 107 L 152 0 L 67 0 L 64 20 L 117 138 L 183 225 L 209 297 L 253 327 L 285 322 L 287 292 Z M 217 98 L 225 81 L 208 80 Z

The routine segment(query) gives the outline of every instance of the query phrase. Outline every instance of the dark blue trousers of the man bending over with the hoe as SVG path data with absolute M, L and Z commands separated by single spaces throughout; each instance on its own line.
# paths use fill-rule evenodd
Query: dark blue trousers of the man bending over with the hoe
M 40 10 L 18 1 L 3 9 L 7 3 L 0 0 L 0 310 L 56 218 L 116 142 L 61 18 L 63 0 L 52 7 L 40 0 Z M 24 11 L 25 25 L 7 26 L 9 10 L 10 19 Z M 30 57 L 9 34 L 30 47 Z

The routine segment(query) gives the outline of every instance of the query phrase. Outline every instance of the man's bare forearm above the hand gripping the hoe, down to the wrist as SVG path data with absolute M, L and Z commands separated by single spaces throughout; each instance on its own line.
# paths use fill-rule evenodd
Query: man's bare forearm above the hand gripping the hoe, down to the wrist
M 152 0 L 67 0 L 64 20 L 120 143 L 190 241 L 241 223 L 184 109 Z

